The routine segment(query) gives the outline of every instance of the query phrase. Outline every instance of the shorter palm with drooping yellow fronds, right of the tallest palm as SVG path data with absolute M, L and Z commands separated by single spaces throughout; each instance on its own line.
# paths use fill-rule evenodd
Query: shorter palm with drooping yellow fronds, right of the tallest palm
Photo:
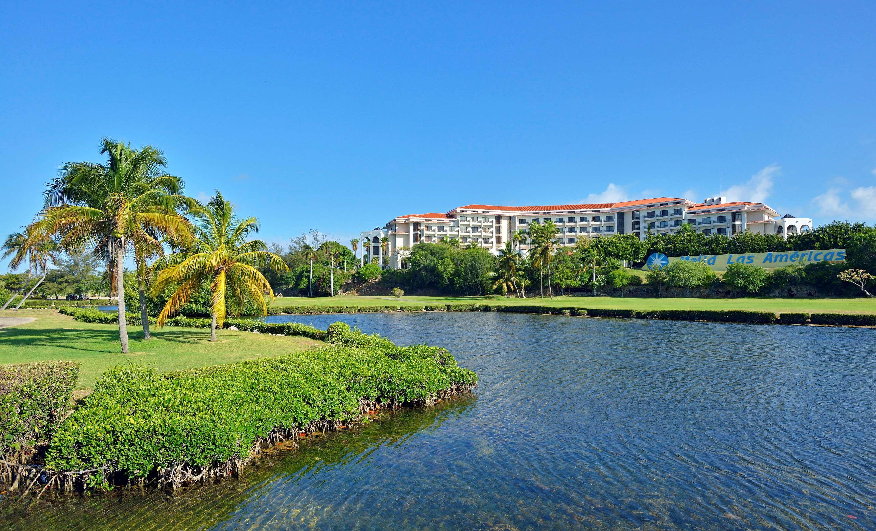
M 267 315 L 264 294 L 273 299 L 273 291 L 257 267 L 289 270 L 283 258 L 267 251 L 265 242 L 247 239 L 258 232 L 256 218 L 238 218 L 231 203 L 218 190 L 215 194 L 206 205 L 189 212 L 194 227 L 187 248 L 152 264 L 152 272 L 157 273 L 152 282 L 153 296 L 173 283 L 180 283 L 161 310 L 157 326 L 164 325 L 170 315 L 179 311 L 201 282 L 210 282 L 210 341 L 216 340 L 216 327 L 222 328 L 229 310 L 231 315 L 238 315 L 247 301 L 255 302 L 262 315 Z

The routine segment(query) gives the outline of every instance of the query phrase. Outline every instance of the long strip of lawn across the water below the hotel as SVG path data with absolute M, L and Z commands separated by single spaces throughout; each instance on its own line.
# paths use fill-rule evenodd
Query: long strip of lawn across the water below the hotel
M 538 292 L 535 292 L 536 294 Z M 527 295 L 529 292 L 527 292 Z M 404 296 L 400 299 L 390 296 L 345 296 L 336 297 L 282 297 L 273 301 L 272 306 L 369 306 L 378 304 L 440 304 L 454 302 L 477 302 L 481 304 L 542 304 L 547 306 L 579 306 L 583 308 L 626 308 L 626 309 L 744 309 L 757 311 L 836 313 L 836 314 L 876 314 L 876 299 L 866 297 L 744 297 L 739 299 L 698 299 L 698 298 L 642 298 L 642 297 L 582 297 L 563 296 L 553 300 L 535 296 L 531 299 L 505 298 L 502 295 L 484 297 L 418 297 Z

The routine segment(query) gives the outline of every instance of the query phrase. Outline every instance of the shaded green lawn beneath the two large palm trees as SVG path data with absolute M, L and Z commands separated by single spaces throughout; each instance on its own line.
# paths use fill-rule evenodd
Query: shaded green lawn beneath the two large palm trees
M 118 326 L 74 321 L 57 310 L 4 310 L 4 317 L 36 317 L 37 320 L 0 329 L 0 365 L 65 359 L 81 364 L 77 390 L 90 389 L 95 379 L 113 365 L 136 363 L 159 371 L 175 371 L 203 365 L 221 365 L 244 359 L 265 358 L 306 350 L 325 343 L 306 337 L 267 336 L 218 330 L 210 343 L 208 329 L 165 327 L 143 339 L 139 325 L 128 327 L 129 350 L 122 354 Z

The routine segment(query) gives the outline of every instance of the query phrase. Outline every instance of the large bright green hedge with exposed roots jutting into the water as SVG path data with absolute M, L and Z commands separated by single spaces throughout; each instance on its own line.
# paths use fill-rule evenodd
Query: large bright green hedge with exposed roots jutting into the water
M 262 441 L 357 421 L 375 403 L 428 404 L 476 383 L 447 350 L 426 345 L 333 347 L 166 375 L 127 365 L 97 380 L 54 435 L 46 465 L 175 486 L 237 470 Z

